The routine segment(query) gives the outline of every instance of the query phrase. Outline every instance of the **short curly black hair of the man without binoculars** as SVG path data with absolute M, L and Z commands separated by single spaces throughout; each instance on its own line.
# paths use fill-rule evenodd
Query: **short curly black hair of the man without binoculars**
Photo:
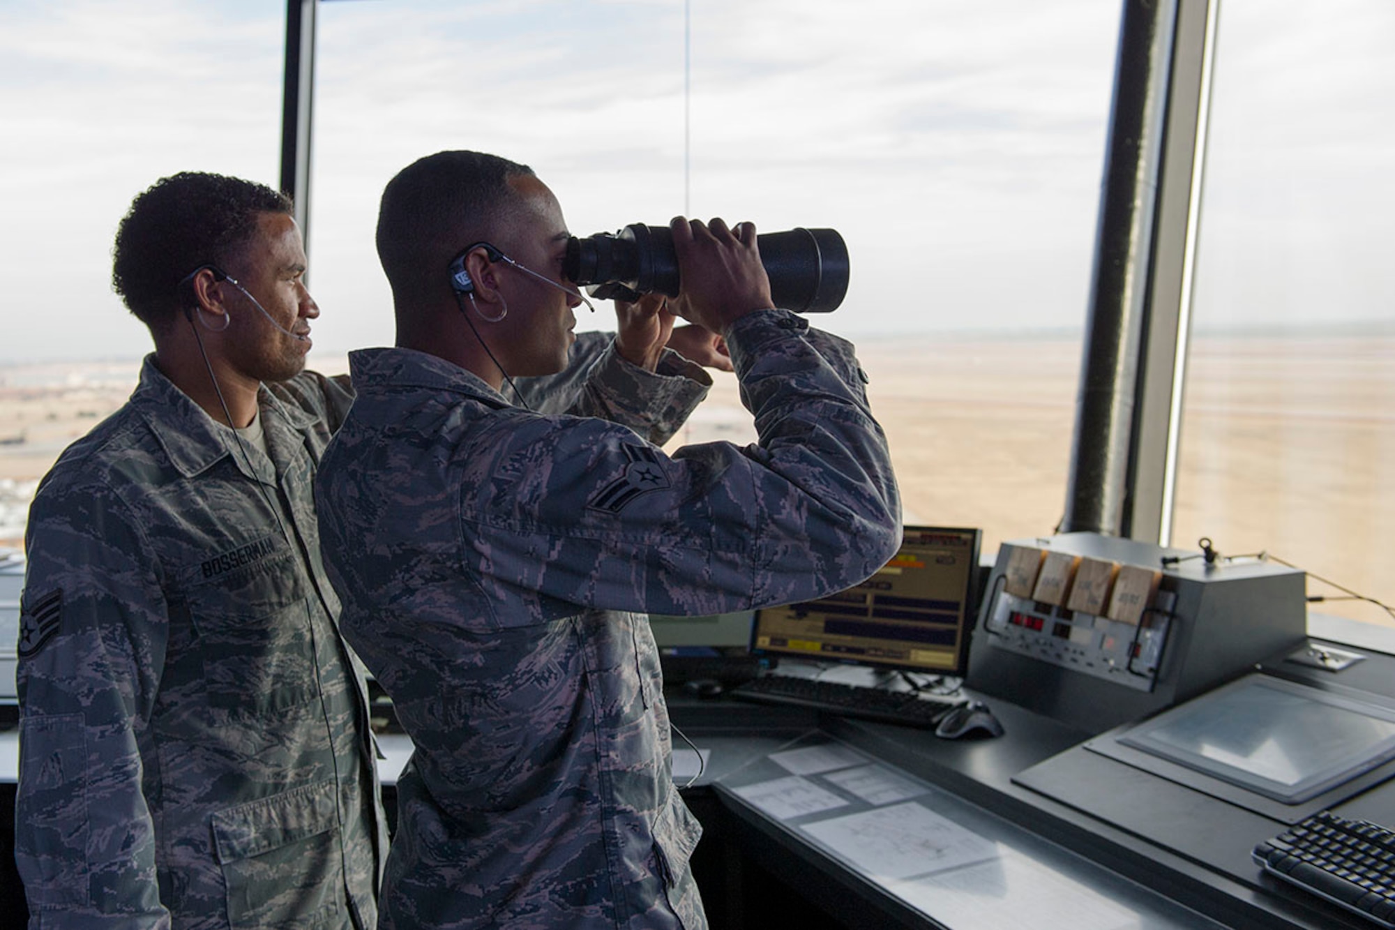
M 179 283 L 204 264 L 223 265 L 251 240 L 261 214 L 294 215 L 294 205 L 265 184 L 180 172 L 131 201 L 112 249 L 112 288 L 151 330 L 183 307 Z

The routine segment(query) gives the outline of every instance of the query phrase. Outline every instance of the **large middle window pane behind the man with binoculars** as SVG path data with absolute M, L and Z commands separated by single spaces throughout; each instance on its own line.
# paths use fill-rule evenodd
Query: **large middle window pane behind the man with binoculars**
M 675 214 L 831 226 L 851 286 L 815 324 L 858 342 L 907 519 L 983 526 L 989 552 L 1049 532 L 1117 20 L 1116 0 L 322 4 L 317 353 L 391 344 L 378 197 L 444 148 L 530 165 L 579 235 Z M 582 317 L 614 325 L 604 304 Z M 753 438 L 717 380 L 679 441 Z

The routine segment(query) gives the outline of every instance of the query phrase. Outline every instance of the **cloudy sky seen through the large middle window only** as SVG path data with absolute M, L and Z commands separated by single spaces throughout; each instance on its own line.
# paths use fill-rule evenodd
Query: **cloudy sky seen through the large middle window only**
M 365 320 L 385 331 L 385 286 L 353 263 L 354 243 L 382 183 L 439 148 L 531 163 L 579 232 L 685 208 L 681 3 L 324 10 L 317 151 L 352 158 L 317 156 L 317 216 L 338 205 L 333 244 L 324 223 L 314 233 L 322 304 L 375 303 Z M 834 328 L 954 325 L 965 309 L 1003 325 L 1078 321 L 1116 21 L 1099 0 L 1021 17 L 695 3 L 692 212 L 843 229 L 854 285 Z M 1020 275 L 995 271 L 1009 251 Z M 1011 281 L 1032 288 L 1030 311 L 1000 299 Z

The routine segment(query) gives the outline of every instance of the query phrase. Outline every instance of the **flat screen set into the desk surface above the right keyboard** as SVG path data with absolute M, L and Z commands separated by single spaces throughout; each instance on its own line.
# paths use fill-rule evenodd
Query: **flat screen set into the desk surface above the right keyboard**
M 1251 674 L 1131 728 L 1119 741 L 1297 804 L 1395 758 L 1395 711 Z

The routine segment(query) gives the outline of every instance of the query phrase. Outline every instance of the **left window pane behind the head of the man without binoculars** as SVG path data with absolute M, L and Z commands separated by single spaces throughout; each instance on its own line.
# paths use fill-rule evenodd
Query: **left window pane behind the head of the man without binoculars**
M 285 17 L 283 0 L 0 3 L 0 547 L 151 349 L 110 285 L 131 200 L 180 170 L 276 186 Z

